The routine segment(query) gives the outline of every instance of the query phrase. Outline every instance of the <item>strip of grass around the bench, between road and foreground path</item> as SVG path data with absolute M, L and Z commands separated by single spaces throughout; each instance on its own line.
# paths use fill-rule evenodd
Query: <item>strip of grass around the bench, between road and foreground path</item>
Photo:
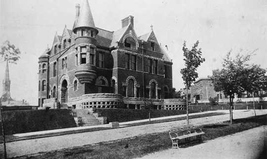
M 235 119 L 232 125 L 229 125 L 229 122 L 223 122 L 199 127 L 205 132 L 202 136 L 205 141 L 261 125 L 267 125 L 267 115 Z M 169 133 L 162 132 L 13 159 L 134 159 L 171 147 Z

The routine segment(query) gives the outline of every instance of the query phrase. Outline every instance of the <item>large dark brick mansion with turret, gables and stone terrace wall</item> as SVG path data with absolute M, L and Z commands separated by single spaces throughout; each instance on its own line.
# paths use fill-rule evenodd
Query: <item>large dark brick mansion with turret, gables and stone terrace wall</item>
M 117 31 L 97 28 L 84 0 L 39 57 L 39 106 L 184 109 L 172 99 L 172 65 L 152 28 L 137 36 L 133 16 Z

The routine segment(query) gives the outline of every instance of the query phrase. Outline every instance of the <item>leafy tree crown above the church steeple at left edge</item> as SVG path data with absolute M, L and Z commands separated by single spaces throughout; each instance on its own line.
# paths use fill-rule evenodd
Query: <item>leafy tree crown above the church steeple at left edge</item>
M 4 61 L 16 64 L 16 61 L 20 58 L 19 54 L 19 49 L 11 45 L 8 40 L 1 46 L 0 56 Z

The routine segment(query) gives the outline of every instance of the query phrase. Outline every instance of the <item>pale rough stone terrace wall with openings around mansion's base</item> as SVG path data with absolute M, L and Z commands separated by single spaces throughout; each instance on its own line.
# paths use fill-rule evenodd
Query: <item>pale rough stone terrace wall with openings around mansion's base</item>
M 45 100 L 44 106 L 56 108 L 55 99 Z M 86 94 L 68 100 L 66 104 L 76 109 L 91 108 L 129 108 L 129 109 L 167 109 L 185 110 L 186 103 L 182 99 L 150 100 L 142 98 L 123 98 L 119 94 L 96 93 Z

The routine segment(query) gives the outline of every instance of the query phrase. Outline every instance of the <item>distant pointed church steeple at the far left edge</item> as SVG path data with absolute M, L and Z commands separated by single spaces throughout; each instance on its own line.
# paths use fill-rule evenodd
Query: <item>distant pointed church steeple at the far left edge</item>
M 12 101 L 10 96 L 10 79 L 9 79 L 9 67 L 8 61 L 6 61 L 5 71 L 4 71 L 4 79 L 3 79 L 3 94 L 1 97 L 1 101 Z

